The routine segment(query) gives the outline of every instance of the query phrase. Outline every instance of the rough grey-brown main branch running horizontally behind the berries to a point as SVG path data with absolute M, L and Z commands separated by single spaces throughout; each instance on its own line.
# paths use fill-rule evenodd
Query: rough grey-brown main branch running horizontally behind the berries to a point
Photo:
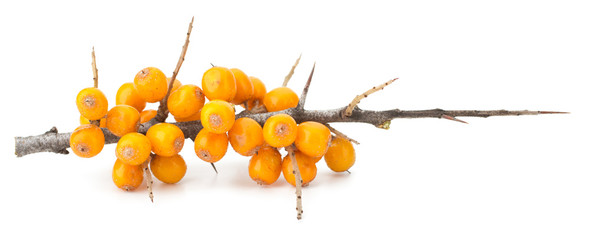
M 306 110 L 300 111 L 296 108 L 290 108 L 279 112 L 267 113 L 251 113 L 241 112 L 235 117 L 249 117 L 257 121 L 260 125 L 264 125 L 266 120 L 279 113 L 286 113 L 291 115 L 296 122 L 301 123 L 305 121 L 315 121 L 320 123 L 332 122 L 358 122 L 368 123 L 376 127 L 387 128 L 390 121 L 397 118 L 444 118 L 444 115 L 454 117 L 491 117 L 491 116 L 521 116 L 521 115 L 540 115 L 540 114 L 566 114 L 567 112 L 552 112 L 552 111 L 507 111 L 507 110 L 399 110 L 391 109 L 384 111 L 362 110 L 354 108 L 352 115 L 349 117 L 342 116 L 342 112 L 346 107 L 330 109 L 330 110 Z M 143 124 L 138 132 L 145 134 L 147 130 L 157 122 L 149 121 Z M 178 126 L 186 138 L 194 140 L 196 134 L 202 129 L 200 121 L 179 122 L 174 123 Z M 104 133 L 105 143 L 116 143 L 119 137 L 112 134 L 108 129 L 102 128 Z M 30 137 L 15 137 L 15 154 L 22 157 L 31 153 L 38 152 L 54 152 L 65 153 L 64 151 L 70 147 L 69 137 L 71 133 L 44 133 L 37 136 Z

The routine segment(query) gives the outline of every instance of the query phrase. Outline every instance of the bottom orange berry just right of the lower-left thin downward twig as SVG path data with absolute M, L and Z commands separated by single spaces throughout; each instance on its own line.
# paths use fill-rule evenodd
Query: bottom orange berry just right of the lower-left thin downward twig
M 156 155 L 150 162 L 151 173 L 160 181 L 177 183 L 186 175 L 186 162 L 180 155 L 164 157 Z

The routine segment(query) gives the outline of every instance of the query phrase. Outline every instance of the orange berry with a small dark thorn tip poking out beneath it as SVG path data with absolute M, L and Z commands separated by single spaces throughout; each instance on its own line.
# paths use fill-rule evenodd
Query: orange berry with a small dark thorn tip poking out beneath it
M 200 159 L 214 163 L 225 156 L 228 141 L 227 134 L 217 134 L 203 128 L 194 139 L 194 151 Z

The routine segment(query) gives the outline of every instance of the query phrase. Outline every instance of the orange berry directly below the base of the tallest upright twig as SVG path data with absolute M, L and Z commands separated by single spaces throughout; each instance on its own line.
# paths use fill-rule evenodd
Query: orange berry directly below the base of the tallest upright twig
M 171 157 L 177 155 L 184 146 L 184 133 L 171 123 L 158 123 L 149 128 L 145 134 L 155 154 Z

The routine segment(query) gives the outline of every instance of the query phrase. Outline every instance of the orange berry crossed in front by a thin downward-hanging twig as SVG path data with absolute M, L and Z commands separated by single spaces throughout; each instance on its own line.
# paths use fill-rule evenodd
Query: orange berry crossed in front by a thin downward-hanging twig
M 295 151 L 294 155 L 297 159 L 297 166 L 299 166 L 299 171 L 301 172 L 301 179 L 303 180 L 302 186 L 307 186 L 311 181 L 313 181 L 313 179 L 315 179 L 315 176 L 317 176 L 317 166 L 315 165 L 315 160 L 309 156 L 306 156 L 300 151 Z M 294 174 L 294 168 L 290 154 L 287 154 L 282 159 L 282 175 L 284 175 L 284 179 L 286 179 L 290 185 L 296 186 L 296 177 Z

